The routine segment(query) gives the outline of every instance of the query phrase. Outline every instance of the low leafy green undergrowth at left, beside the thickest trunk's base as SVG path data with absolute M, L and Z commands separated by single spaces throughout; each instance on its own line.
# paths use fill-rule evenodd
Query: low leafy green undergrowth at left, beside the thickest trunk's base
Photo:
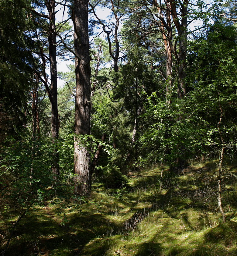
M 16 204 L 41 204 L 46 199 L 53 201 L 56 195 L 66 199 L 71 194 L 72 191 L 63 185 L 68 178 L 72 178 L 70 165 L 62 166 L 62 183 L 53 180 L 51 172 L 51 155 L 54 148 L 65 154 L 65 145 L 70 148 L 67 141 L 53 144 L 50 139 L 32 142 L 25 138 L 21 141 L 9 138 L 7 143 L 8 146 L 1 148 L 1 166 L 4 170 L 1 173 L 2 186 L 10 183 L 4 181 L 5 176 L 11 177 L 12 184 L 9 189 L 15 190 L 15 193 L 12 191 L 8 195 Z M 68 150 L 65 155 L 67 154 Z M 68 189 L 67 195 L 64 194 Z

